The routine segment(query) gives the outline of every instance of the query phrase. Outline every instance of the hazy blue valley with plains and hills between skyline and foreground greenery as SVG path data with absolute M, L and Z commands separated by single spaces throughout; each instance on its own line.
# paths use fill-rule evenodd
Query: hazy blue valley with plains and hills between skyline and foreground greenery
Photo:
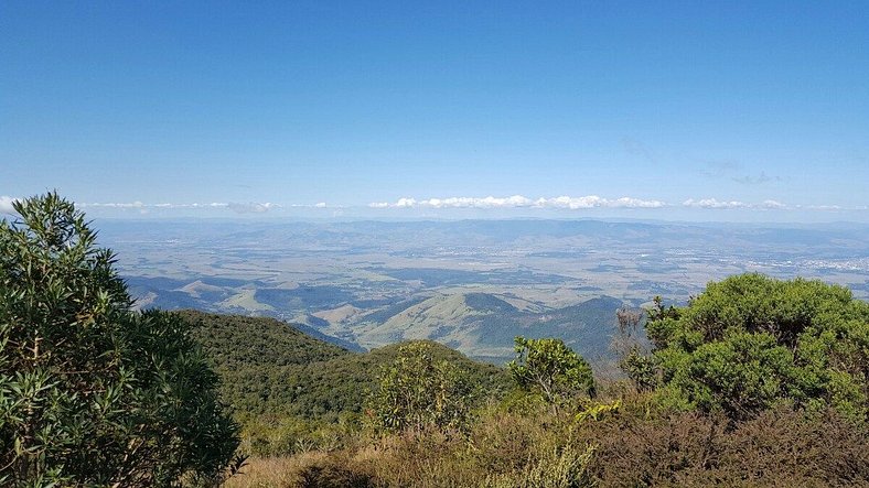
M 501 364 L 564 337 L 607 364 L 620 306 L 711 280 L 817 278 L 869 297 L 869 227 L 602 220 L 100 220 L 140 307 L 272 316 L 351 349 L 429 338 Z

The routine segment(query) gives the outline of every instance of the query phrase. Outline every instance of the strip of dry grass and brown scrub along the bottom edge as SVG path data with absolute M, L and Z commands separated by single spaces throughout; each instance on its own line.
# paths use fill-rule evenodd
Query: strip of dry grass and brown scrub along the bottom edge
M 867 427 L 834 412 L 779 409 L 728 425 L 714 415 L 642 410 L 582 422 L 493 411 L 468 436 L 391 435 L 331 453 L 254 458 L 227 486 L 869 486 Z

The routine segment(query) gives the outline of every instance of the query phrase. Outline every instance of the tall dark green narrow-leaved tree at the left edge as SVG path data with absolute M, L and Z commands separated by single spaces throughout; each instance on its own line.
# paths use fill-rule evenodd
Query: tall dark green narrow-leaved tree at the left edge
M 216 480 L 238 444 L 179 317 L 137 313 L 115 256 L 56 193 L 0 221 L 0 484 Z

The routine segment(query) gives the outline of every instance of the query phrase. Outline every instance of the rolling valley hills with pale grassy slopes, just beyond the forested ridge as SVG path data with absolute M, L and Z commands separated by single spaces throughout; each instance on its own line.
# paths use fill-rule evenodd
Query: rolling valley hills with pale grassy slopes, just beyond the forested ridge
M 208 279 L 190 283 L 143 278 L 127 281 L 135 295 L 146 297 L 140 302 L 146 308 L 282 317 L 311 336 L 350 350 L 431 339 L 495 364 L 513 357 L 517 335 L 559 337 L 592 361 L 609 359 L 615 311 L 623 306 L 611 296 L 565 307 L 480 292 L 366 302 L 354 301 L 332 286 L 254 289 Z

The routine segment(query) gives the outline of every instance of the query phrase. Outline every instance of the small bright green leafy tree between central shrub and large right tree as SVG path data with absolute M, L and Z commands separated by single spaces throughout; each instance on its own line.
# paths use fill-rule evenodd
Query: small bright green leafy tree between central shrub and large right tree
M 594 397 L 591 367 L 561 339 L 517 336 L 515 343 L 516 359 L 508 367 L 522 389 L 540 393 L 554 410 L 577 394 Z

